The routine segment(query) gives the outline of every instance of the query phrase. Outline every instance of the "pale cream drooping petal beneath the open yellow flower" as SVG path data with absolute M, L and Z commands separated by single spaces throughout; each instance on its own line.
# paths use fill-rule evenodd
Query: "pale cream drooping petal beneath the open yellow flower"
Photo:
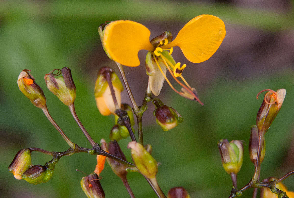
M 163 62 L 158 61 L 164 75 L 166 75 L 166 66 L 165 64 L 163 64 Z M 155 74 L 153 76 L 149 76 L 149 86 L 150 89 L 152 91 L 152 93 L 155 96 L 158 96 L 161 89 L 162 89 L 162 85 L 164 82 L 164 76 L 162 75 L 161 71 L 159 70 L 158 66 L 155 64 L 154 65 L 154 69 L 155 69 Z

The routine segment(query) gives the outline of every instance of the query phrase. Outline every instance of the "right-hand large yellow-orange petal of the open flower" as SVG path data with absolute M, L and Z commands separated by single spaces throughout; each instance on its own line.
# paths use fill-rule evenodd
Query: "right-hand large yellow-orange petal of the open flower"
M 216 52 L 224 37 L 223 21 L 216 16 L 203 14 L 191 19 L 176 39 L 164 47 L 179 46 L 189 61 L 200 63 Z

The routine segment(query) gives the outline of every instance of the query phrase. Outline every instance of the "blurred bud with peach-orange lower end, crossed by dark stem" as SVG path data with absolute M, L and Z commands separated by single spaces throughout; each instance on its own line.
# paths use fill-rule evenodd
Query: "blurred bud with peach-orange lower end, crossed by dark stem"
M 108 116 L 111 113 L 115 114 L 116 107 L 114 105 L 110 87 L 106 80 L 106 73 L 111 74 L 111 82 L 116 96 L 118 106 L 121 106 L 121 91 L 123 91 L 123 85 L 118 76 L 109 67 L 102 67 L 98 71 L 98 77 L 95 84 L 95 99 L 99 112 L 103 116 Z

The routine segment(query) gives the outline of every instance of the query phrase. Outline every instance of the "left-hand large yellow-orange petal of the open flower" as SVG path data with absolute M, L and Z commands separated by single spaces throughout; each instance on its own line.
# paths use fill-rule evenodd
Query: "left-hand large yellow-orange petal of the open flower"
M 148 28 L 135 21 L 119 20 L 108 24 L 104 31 L 103 45 L 111 58 L 126 66 L 138 66 L 138 51 L 153 50 Z

